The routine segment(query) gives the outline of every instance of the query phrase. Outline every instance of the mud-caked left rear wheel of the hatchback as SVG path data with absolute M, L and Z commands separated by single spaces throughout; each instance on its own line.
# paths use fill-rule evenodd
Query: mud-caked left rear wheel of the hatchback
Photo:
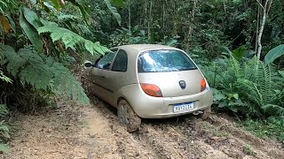
M 141 118 L 132 110 L 130 104 L 121 100 L 117 106 L 117 116 L 122 125 L 126 125 L 127 132 L 132 133 L 138 130 L 141 125 Z

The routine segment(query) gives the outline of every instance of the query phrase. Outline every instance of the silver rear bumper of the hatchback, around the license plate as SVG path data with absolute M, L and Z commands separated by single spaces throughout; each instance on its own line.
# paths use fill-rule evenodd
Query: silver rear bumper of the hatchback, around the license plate
M 190 114 L 195 111 L 205 110 L 209 108 L 213 102 L 212 91 L 209 89 L 195 95 L 178 97 L 153 97 L 146 95 L 143 90 L 138 90 L 137 87 L 134 89 L 130 87 L 136 86 L 128 86 L 126 90 L 133 90 L 128 91 L 130 93 L 122 91 L 124 93 L 123 97 L 130 102 L 131 107 L 138 114 L 138 116 L 143 118 L 177 117 Z M 194 102 L 193 110 L 174 113 L 173 104 L 184 102 Z

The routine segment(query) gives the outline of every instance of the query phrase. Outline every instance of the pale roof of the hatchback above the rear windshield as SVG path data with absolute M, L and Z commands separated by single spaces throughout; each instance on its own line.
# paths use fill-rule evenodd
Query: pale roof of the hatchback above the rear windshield
M 159 45 L 159 44 L 131 44 L 131 45 L 122 45 L 115 47 L 117 49 L 136 49 L 137 52 L 147 50 L 147 49 L 177 49 L 170 46 Z

